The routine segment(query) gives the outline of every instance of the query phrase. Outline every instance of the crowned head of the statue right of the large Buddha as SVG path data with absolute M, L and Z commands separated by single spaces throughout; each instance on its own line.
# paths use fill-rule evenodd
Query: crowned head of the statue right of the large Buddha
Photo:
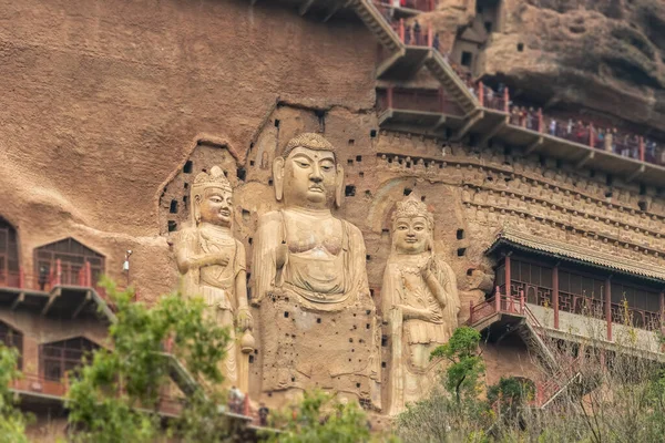
M 392 214 L 392 248 L 398 254 L 421 254 L 433 246 L 434 217 L 427 205 L 408 196 Z

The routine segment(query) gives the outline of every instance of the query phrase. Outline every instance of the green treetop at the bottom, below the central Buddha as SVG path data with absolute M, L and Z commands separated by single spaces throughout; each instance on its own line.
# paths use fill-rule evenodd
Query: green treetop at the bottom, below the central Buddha
M 266 434 L 270 443 L 356 443 L 381 439 L 370 433 L 367 415 L 357 403 L 342 404 L 319 391 L 305 392 L 297 406 L 273 415 L 273 421 L 283 431 Z

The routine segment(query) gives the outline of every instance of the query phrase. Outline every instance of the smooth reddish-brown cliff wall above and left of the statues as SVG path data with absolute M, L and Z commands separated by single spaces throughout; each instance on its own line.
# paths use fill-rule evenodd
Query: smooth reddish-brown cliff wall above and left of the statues
M 23 266 L 74 237 L 120 281 L 134 250 L 142 298 L 170 291 L 158 197 L 197 135 L 243 163 L 278 99 L 371 109 L 375 53 L 361 23 L 280 4 L 0 0 L 0 216 Z

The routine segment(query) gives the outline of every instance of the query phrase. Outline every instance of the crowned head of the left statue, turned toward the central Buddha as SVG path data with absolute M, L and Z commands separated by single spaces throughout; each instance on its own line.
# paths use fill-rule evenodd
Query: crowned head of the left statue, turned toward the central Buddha
M 192 184 L 192 216 L 196 225 L 231 226 L 233 189 L 219 166 L 201 173 Z

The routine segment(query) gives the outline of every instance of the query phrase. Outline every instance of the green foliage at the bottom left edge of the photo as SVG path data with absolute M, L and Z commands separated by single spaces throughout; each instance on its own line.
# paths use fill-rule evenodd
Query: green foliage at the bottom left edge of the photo
M 0 443 L 28 443 L 25 425 L 28 419 L 14 404 L 9 385 L 20 378 L 17 367 L 19 352 L 0 343 Z

